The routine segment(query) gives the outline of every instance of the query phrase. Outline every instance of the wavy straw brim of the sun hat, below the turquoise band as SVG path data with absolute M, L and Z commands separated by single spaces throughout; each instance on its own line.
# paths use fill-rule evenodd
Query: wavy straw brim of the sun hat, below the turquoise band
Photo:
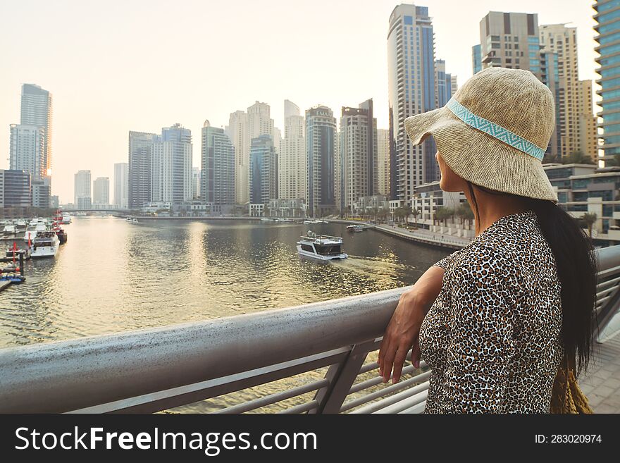
M 467 125 L 443 107 L 409 116 L 405 130 L 413 144 L 432 136 L 442 159 L 459 177 L 500 192 L 557 204 L 540 160 Z

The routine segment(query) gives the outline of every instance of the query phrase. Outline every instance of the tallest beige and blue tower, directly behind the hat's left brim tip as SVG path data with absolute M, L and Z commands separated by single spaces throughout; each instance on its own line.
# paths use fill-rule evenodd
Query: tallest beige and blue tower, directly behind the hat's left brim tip
M 390 123 L 390 194 L 409 200 L 414 186 L 438 180 L 435 142 L 412 146 L 404 120 L 436 108 L 433 23 L 426 6 L 401 4 L 390 15 L 387 33 Z

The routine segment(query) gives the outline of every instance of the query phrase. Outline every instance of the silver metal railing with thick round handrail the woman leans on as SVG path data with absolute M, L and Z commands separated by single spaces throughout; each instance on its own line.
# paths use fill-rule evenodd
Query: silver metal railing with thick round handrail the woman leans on
M 620 307 L 620 245 L 597 252 L 603 328 Z M 0 412 L 159 412 L 295 376 L 217 412 L 420 413 L 428 366 L 384 385 L 372 361 L 406 289 L 0 350 Z

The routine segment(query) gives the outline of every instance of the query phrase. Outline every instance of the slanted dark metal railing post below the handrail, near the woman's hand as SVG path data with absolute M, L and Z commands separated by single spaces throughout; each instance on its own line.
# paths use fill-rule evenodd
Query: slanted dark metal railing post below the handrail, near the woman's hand
M 325 374 L 329 385 L 316 391 L 314 400 L 318 402 L 316 409 L 308 413 L 340 413 L 349 390 L 364 365 L 368 352 L 373 349 L 375 340 L 353 345 L 347 358 L 340 364 L 333 364 Z

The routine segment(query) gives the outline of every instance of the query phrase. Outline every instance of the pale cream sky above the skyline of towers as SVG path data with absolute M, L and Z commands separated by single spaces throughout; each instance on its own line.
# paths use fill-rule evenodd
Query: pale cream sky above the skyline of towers
M 579 77 L 595 79 L 592 0 L 426 0 L 436 58 L 459 85 L 488 11 L 538 13 L 538 23 L 577 27 Z M 228 124 L 263 101 L 284 129 L 284 100 L 302 113 L 373 98 L 387 128 L 387 22 L 391 0 L 18 0 L 0 2 L 0 168 L 20 87 L 54 95 L 52 192 L 73 202 L 73 174 L 109 177 L 128 161 L 128 131 Z M 284 134 L 283 134 L 284 135 Z

